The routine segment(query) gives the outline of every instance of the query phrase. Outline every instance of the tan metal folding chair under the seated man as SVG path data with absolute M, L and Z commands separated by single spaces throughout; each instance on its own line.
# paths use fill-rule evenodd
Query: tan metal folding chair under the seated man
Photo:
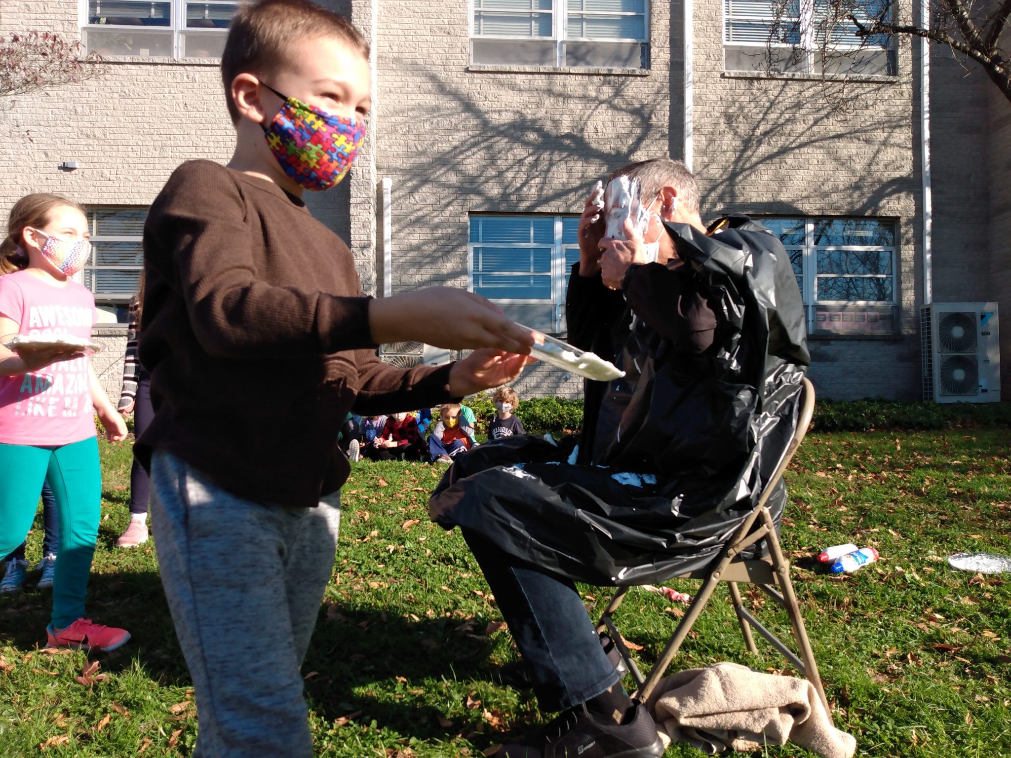
M 706 607 L 706 603 L 709 602 L 709 598 L 712 596 L 717 584 L 719 582 L 727 582 L 734 610 L 737 612 L 737 621 L 741 625 L 744 644 L 748 651 L 754 655 L 758 655 L 758 649 L 755 647 L 755 641 L 751 635 L 751 628 L 753 627 L 802 675 L 814 684 L 819 697 L 821 697 L 822 704 L 825 706 L 825 713 L 831 719 L 832 712 L 829 708 L 828 699 L 825 697 L 825 689 L 822 686 L 821 678 L 818 676 L 818 664 L 815 662 L 811 643 L 808 641 L 808 633 L 804 627 L 804 619 L 801 618 L 801 608 L 797 602 L 794 585 L 790 581 L 790 563 L 783 555 L 783 549 L 779 547 L 779 539 L 775 534 L 775 526 L 772 523 L 772 515 L 765 505 L 776 484 L 783 478 L 783 472 L 786 471 L 787 466 L 794 457 L 794 453 L 797 452 L 801 442 L 804 440 L 808 427 L 811 425 L 811 416 L 814 413 L 815 407 L 815 389 L 808 379 L 803 380 L 801 403 L 801 412 L 797 422 L 797 431 L 794 433 L 794 439 L 787 448 L 787 452 L 784 454 L 783 460 L 776 467 L 772 477 L 765 485 L 765 489 L 758 499 L 758 504 L 748 514 L 748 517 L 741 525 L 733 539 L 730 540 L 720 555 L 708 567 L 671 577 L 677 579 L 702 579 L 703 584 L 699 589 L 699 593 L 688 605 L 684 617 L 677 625 L 677 629 L 674 630 L 670 641 L 667 643 L 667 647 L 663 650 L 662 655 L 660 655 L 660 658 L 650 670 L 647 677 L 643 677 L 635 661 L 632 660 L 632 655 L 622 641 L 621 633 L 612 619 L 618 606 L 621 605 L 625 594 L 629 591 L 629 587 L 620 587 L 615 596 L 611 598 L 611 602 L 608 604 L 604 615 L 601 617 L 601 621 L 598 624 L 598 632 L 607 632 L 621 653 L 622 658 L 625 659 L 629 671 L 635 678 L 636 685 L 638 686 L 634 694 L 636 699 L 642 702 L 649 699 L 657 682 L 663 677 L 664 672 L 670 665 L 670 661 L 673 660 L 681 643 L 684 642 L 684 638 L 692 631 L 692 627 L 695 625 L 699 614 L 702 613 L 703 608 Z M 756 523 L 758 524 L 757 527 L 755 526 Z M 767 557 L 755 560 L 743 560 L 739 557 L 742 551 L 760 540 L 764 540 L 768 547 Z M 786 608 L 790 614 L 790 623 L 793 627 L 794 638 L 800 651 L 800 657 L 744 607 L 741 591 L 737 586 L 738 584 L 758 585 L 765 594 Z M 778 585 L 778 589 L 775 586 L 776 584 Z

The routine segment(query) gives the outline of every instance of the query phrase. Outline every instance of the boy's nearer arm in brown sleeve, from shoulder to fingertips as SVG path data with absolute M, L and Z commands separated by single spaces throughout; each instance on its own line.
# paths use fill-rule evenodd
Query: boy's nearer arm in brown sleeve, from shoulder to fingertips
M 178 289 L 208 354 L 331 354 L 411 340 L 522 353 L 533 345 L 533 338 L 490 302 L 462 290 L 370 300 L 265 281 L 250 252 L 242 192 L 212 164 L 185 164 L 169 179 L 145 226 L 147 263 Z

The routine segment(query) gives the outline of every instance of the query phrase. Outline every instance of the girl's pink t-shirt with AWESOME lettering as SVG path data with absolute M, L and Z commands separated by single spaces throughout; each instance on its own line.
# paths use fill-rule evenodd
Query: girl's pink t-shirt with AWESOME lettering
M 76 282 L 58 287 L 17 271 L 0 276 L 0 315 L 17 321 L 20 335 L 90 338 L 97 310 Z M 0 443 L 67 445 L 94 437 L 90 366 L 90 358 L 78 358 L 0 377 Z

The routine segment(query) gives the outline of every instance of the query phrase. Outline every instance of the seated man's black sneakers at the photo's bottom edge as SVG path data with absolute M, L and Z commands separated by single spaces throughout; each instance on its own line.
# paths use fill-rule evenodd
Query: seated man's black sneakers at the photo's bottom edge
M 663 741 L 645 705 L 634 705 L 626 724 L 603 724 L 585 705 L 564 712 L 525 745 L 504 745 L 498 758 L 659 758 Z

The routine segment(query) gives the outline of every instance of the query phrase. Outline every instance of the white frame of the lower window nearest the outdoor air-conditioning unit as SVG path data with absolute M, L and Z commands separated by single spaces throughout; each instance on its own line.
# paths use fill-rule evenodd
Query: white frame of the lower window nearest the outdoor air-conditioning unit
M 819 306 L 835 309 L 844 312 L 851 308 L 890 308 L 892 313 L 891 331 L 853 331 L 849 333 L 854 337 L 877 337 L 882 335 L 895 335 L 898 331 L 898 315 L 900 303 L 900 266 L 899 266 L 899 230 L 900 224 L 897 218 L 877 217 L 877 216 L 793 216 L 793 215 L 766 215 L 757 217 L 759 222 L 771 220 L 796 220 L 804 221 L 804 245 L 786 245 L 788 255 L 792 251 L 801 251 L 801 296 L 804 300 L 804 311 L 807 319 L 809 335 L 822 335 L 826 337 L 846 336 L 845 331 L 829 331 L 827 329 L 817 329 L 817 310 Z M 815 225 L 818 221 L 846 221 L 846 220 L 867 220 L 877 221 L 880 224 L 891 224 L 893 233 L 893 245 L 815 245 Z M 775 234 L 775 232 L 772 232 Z M 776 236 L 778 239 L 778 236 Z M 886 274 L 819 274 L 818 253 L 819 252 L 886 252 L 892 259 L 892 271 Z M 796 274 L 795 274 L 796 276 Z M 892 279 L 892 299 L 891 300 L 821 300 L 818 298 L 819 277 L 831 277 L 834 279 Z

